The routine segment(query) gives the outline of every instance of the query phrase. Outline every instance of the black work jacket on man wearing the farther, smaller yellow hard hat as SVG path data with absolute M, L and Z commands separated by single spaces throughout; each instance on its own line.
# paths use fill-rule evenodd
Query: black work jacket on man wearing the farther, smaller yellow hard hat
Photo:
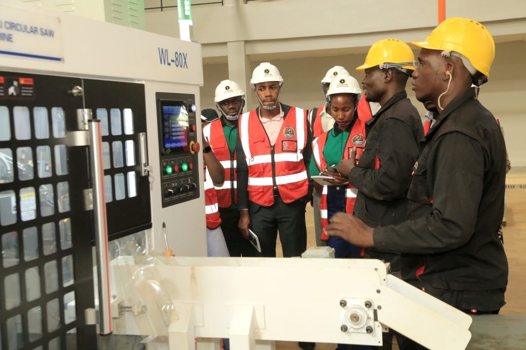
M 398 92 L 366 122 L 366 145 L 349 182 L 358 189 L 354 215 L 372 228 L 398 224 L 407 214 L 407 190 L 411 170 L 423 137 L 417 109 Z M 391 263 L 399 271 L 398 254 L 367 249 L 366 258 Z

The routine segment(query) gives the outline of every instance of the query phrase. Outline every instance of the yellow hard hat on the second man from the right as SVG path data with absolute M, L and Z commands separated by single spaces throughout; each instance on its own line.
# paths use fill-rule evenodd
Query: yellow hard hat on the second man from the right
M 414 70 L 416 65 L 409 45 L 398 39 L 384 39 L 372 44 L 365 63 L 356 67 L 356 70 L 366 70 L 375 66 Z

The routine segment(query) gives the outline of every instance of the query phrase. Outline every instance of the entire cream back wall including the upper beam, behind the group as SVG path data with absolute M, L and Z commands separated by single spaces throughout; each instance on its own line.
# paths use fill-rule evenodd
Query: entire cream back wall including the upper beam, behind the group
M 369 46 L 395 37 L 406 42 L 424 39 L 438 22 L 437 2 L 410 0 L 272 0 L 230 6 L 194 6 L 194 39 L 203 44 L 204 86 L 202 107 L 214 107 L 214 89 L 228 78 L 227 42 L 245 40 L 251 69 L 262 61 L 275 64 L 285 79 L 280 100 L 302 108 L 323 102 L 319 81 L 327 69 L 362 64 Z M 481 101 L 504 127 L 512 166 L 526 166 L 526 88 L 522 66 L 526 57 L 526 1 L 448 1 L 447 17 L 479 20 L 497 42 L 497 54 Z M 148 12 L 147 30 L 178 35 L 177 12 Z M 249 76 L 249 74 L 248 74 Z M 408 84 L 409 85 L 409 84 Z M 249 92 L 250 93 L 250 92 Z M 408 94 L 420 113 L 421 104 Z M 254 107 L 254 106 L 247 106 Z

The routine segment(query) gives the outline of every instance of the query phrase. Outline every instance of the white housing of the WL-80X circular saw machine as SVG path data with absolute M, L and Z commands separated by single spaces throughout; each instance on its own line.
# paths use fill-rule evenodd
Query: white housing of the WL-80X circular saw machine
M 5 5 L 8 4 L 8 7 Z M 75 76 L 143 83 L 146 92 L 148 158 L 153 183 L 151 186 L 151 220 L 149 231 L 153 248 L 165 251 L 162 223 L 166 223 L 168 245 L 174 254 L 206 256 L 205 204 L 202 193 L 203 174 L 199 174 L 201 195 L 184 205 L 163 209 L 159 174 L 159 140 L 157 132 L 156 92 L 193 94 L 200 110 L 199 86 L 203 85 L 201 45 L 144 30 L 99 22 L 80 16 L 40 9 L 16 1 L 7 1 L 1 8 L 23 11 L 24 16 L 59 18 L 59 40 L 63 61 L 19 58 L 2 55 L 0 69 L 24 73 Z M 174 19 L 175 20 L 175 19 Z M 58 36 L 59 35 L 59 36 Z M 45 43 L 36 42 L 35 45 Z M 184 53 L 186 66 L 176 67 L 170 58 Z M 169 55 L 163 61 L 164 55 Z M 178 56 L 179 58 L 179 56 Z M 165 58 L 166 59 L 166 58 Z M 170 65 L 168 65 L 170 64 Z M 197 118 L 197 138 L 201 139 Z M 202 163 L 203 156 L 199 155 Z

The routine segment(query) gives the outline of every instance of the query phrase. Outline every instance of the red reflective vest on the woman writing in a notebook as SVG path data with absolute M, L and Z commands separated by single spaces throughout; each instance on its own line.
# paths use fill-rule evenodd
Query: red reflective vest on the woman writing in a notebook
M 367 116 L 365 116 L 365 118 L 367 118 Z M 358 160 L 360 159 L 361 154 L 363 152 L 363 145 L 365 145 L 365 122 L 367 120 L 368 119 L 362 120 L 361 118 L 356 119 L 355 124 L 352 126 L 352 129 L 350 131 L 345 148 L 343 149 L 343 160 L 349 159 L 349 157 L 351 156 L 352 148 L 356 147 L 356 164 L 358 164 Z M 329 132 L 330 131 L 322 133 L 318 138 L 312 141 L 312 154 L 314 156 L 316 166 L 320 171 L 327 168 L 327 161 L 323 157 L 323 147 L 325 147 L 325 143 L 327 142 Z M 347 213 L 352 213 L 352 210 L 355 207 L 357 194 L 358 190 L 356 189 L 356 187 L 352 186 L 351 184 L 347 184 L 345 192 L 345 197 L 347 199 L 345 211 Z M 320 198 L 320 217 L 321 226 L 323 228 L 327 227 L 327 225 L 329 224 L 329 219 L 327 217 L 327 208 L 327 186 L 323 186 Z M 321 232 L 321 239 L 329 239 L 329 236 L 325 233 L 325 230 L 322 230 Z

